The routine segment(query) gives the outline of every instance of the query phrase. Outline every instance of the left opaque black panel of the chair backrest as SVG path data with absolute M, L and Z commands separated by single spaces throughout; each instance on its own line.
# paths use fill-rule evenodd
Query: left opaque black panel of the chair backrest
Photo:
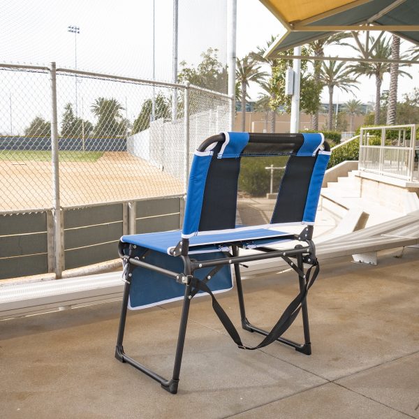
M 214 150 L 205 182 L 199 231 L 235 228 L 240 159 L 217 159 Z

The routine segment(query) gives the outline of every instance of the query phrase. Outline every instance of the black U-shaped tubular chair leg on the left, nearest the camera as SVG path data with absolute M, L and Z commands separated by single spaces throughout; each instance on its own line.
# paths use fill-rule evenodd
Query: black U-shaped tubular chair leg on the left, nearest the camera
M 119 329 L 118 329 L 118 337 L 117 337 L 117 346 L 115 348 L 115 358 L 120 362 L 126 362 L 129 365 L 132 365 L 136 369 L 139 369 L 147 376 L 153 378 L 156 381 L 161 383 L 161 387 L 164 388 L 166 391 L 176 394 L 177 387 L 179 385 L 179 372 L 182 363 L 182 355 L 184 349 L 184 341 L 186 336 L 186 325 L 188 323 L 188 316 L 189 316 L 189 307 L 191 305 L 191 300 L 189 296 L 191 295 L 191 286 L 186 286 L 185 294 L 184 294 L 184 302 L 182 308 L 182 317 L 180 320 L 179 326 L 179 335 L 177 339 L 177 348 L 176 348 L 176 355 L 175 355 L 175 366 L 173 368 L 173 375 L 170 380 L 163 378 L 159 374 L 156 374 L 151 369 L 145 367 L 145 365 L 140 364 L 139 362 L 135 361 L 133 358 L 129 357 L 124 353 L 124 331 L 125 331 L 125 323 L 126 323 L 126 311 L 128 308 L 128 297 L 129 297 L 129 290 L 131 288 L 131 284 L 127 281 L 124 286 L 124 296 L 122 298 L 122 309 L 121 309 L 121 317 L 119 319 Z

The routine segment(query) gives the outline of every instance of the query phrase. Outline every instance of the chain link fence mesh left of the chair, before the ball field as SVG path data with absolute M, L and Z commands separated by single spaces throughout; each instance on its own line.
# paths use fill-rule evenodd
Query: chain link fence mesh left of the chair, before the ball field
M 193 150 L 230 128 L 228 96 L 182 84 L 0 65 L 1 212 L 53 207 L 52 90 L 59 200 L 80 207 L 184 193 Z

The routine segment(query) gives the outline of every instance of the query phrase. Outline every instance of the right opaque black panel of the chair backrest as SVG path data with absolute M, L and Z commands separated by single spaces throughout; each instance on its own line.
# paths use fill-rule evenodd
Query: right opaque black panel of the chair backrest
M 272 223 L 302 221 L 315 162 L 316 157 L 290 157 L 281 186 L 279 186 Z

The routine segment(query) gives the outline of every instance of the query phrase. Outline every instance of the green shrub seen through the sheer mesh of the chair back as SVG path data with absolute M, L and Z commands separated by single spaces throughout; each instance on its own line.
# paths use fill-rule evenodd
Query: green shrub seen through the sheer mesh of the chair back
M 242 157 L 239 176 L 239 191 L 250 196 L 265 196 L 270 191 L 270 170 L 265 169 L 271 164 L 284 167 L 288 157 Z M 284 170 L 274 170 L 273 191 L 279 189 Z

